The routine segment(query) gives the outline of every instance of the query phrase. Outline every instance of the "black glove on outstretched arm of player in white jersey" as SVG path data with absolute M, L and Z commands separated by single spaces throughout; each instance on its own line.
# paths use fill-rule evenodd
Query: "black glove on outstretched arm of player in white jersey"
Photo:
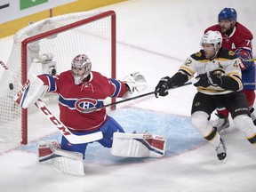
M 159 83 L 156 85 L 156 89 L 155 89 L 155 95 L 156 98 L 158 98 L 158 96 L 166 96 L 168 95 L 168 89 L 172 88 L 173 86 L 175 86 L 175 83 L 172 81 L 172 78 L 170 78 L 169 76 L 165 76 L 163 78 L 160 79 Z

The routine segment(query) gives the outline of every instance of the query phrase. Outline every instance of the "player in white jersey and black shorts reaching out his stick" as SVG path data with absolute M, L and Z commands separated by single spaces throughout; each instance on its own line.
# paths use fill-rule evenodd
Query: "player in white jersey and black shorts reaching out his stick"
M 166 96 L 173 86 L 186 83 L 195 74 L 197 93 L 191 109 L 191 122 L 204 139 L 216 148 L 220 161 L 226 161 L 227 150 L 219 132 L 209 122 L 217 106 L 228 108 L 236 127 L 244 132 L 250 143 L 256 143 L 256 126 L 249 117 L 243 89 L 241 60 L 221 47 L 219 31 L 208 31 L 201 40 L 202 50 L 188 57 L 172 77 L 165 76 L 156 85 L 156 98 Z

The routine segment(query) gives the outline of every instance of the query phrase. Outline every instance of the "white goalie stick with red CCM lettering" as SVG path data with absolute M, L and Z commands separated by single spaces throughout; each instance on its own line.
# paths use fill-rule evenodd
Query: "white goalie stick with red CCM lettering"
M 20 82 L 20 80 L 14 76 L 12 73 L 12 70 L 8 68 L 2 60 L 0 60 L 1 66 L 5 69 L 8 70 L 12 76 L 16 79 L 17 82 Z M 28 82 L 27 82 L 28 83 Z M 22 84 L 21 84 L 22 85 Z M 25 84 L 25 86 L 28 86 L 28 84 Z M 21 91 L 24 91 L 24 87 L 22 86 Z M 87 135 L 76 135 L 70 132 L 65 124 L 62 124 L 60 119 L 56 116 L 54 116 L 49 108 L 46 107 L 44 102 L 42 100 L 37 100 L 35 103 L 36 107 L 40 109 L 40 111 L 46 116 L 52 124 L 54 124 L 55 127 L 58 128 L 59 132 L 70 142 L 73 144 L 78 144 L 78 143 L 87 143 L 87 142 L 92 142 L 95 140 L 101 140 L 103 138 L 102 132 L 93 132 Z

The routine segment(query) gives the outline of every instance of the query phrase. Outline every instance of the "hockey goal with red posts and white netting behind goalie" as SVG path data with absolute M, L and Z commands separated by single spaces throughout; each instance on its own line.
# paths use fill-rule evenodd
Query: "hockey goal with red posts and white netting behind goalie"
M 12 52 L 0 89 L 0 141 L 28 143 L 28 109 L 13 100 L 28 78 L 42 74 L 38 56 L 52 53 L 57 74 L 71 68 L 77 54 L 86 54 L 92 70 L 116 78 L 116 12 L 76 12 L 52 17 L 20 29 L 13 37 Z M 10 73 L 11 72 L 11 73 Z M 14 78 L 14 76 L 16 76 Z M 20 82 L 17 82 L 17 77 Z M 115 102 L 112 98 L 110 102 Z M 109 101 L 108 101 L 109 102 Z M 111 109 L 115 109 L 116 107 Z

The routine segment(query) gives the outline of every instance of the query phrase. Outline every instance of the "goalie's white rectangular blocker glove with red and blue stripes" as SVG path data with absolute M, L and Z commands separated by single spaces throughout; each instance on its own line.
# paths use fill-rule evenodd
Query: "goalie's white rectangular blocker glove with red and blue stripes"
M 28 108 L 35 104 L 37 100 L 42 99 L 47 90 L 48 86 L 41 79 L 34 74 L 29 74 L 28 81 L 22 86 L 20 92 L 14 96 L 13 100 L 22 108 Z

